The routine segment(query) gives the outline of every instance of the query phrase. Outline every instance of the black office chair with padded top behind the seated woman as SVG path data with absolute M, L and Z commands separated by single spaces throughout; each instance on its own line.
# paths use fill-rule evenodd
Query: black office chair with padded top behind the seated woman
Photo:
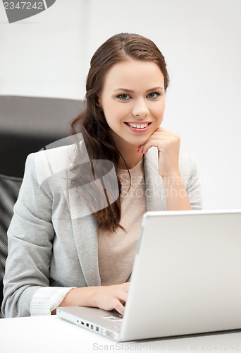
M 70 135 L 69 121 L 83 102 L 0 96 L 0 318 L 7 256 L 7 229 L 23 180 L 27 155 Z

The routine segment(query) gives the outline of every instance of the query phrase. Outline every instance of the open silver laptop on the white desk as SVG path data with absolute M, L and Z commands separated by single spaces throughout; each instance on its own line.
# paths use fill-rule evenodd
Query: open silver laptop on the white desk
M 240 329 L 241 210 L 145 213 L 123 317 L 57 316 L 118 342 Z

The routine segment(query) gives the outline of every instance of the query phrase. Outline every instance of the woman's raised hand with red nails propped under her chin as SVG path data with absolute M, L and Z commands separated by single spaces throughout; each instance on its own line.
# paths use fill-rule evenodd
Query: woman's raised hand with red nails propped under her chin
M 159 174 L 161 177 L 178 177 L 180 136 L 166 128 L 157 128 L 146 143 L 140 146 L 138 152 L 147 153 L 149 148 L 159 150 Z

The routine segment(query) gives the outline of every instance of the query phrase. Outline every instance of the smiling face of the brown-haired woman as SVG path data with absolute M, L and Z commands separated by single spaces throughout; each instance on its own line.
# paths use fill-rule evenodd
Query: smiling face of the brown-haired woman
M 99 104 L 116 147 L 142 145 L 163 119 L 163 73 L 152 61 L 129 59 L 114 64 L 106 73 Z

